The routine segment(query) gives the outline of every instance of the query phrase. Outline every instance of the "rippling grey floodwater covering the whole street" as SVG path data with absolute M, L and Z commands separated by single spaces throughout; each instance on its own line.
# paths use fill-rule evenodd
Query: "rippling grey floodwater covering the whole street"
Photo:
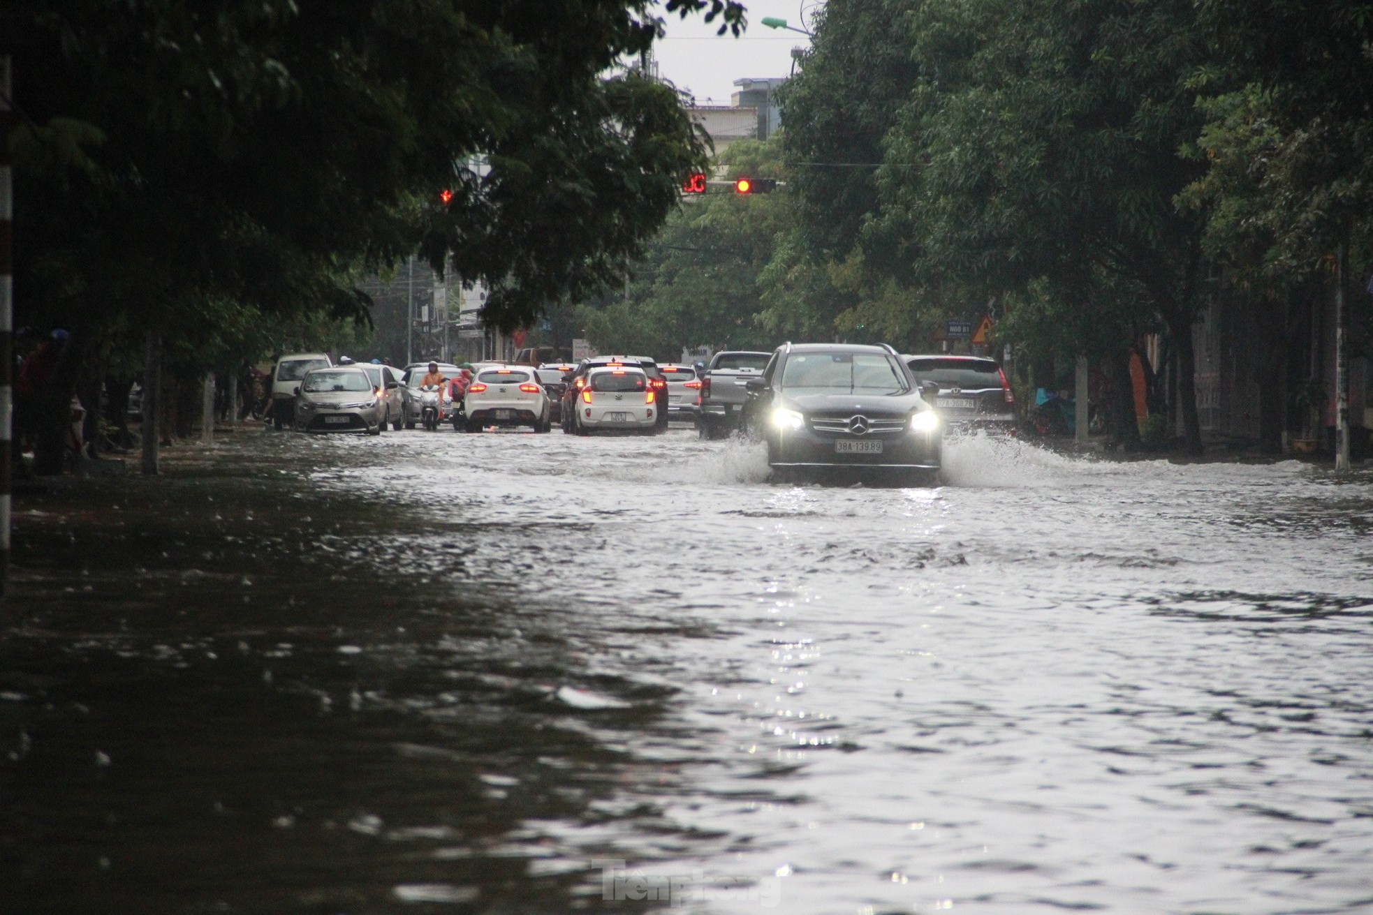
M 1366 469 L 229 438 L 18 505 L 0 911 L 1373 911 Z

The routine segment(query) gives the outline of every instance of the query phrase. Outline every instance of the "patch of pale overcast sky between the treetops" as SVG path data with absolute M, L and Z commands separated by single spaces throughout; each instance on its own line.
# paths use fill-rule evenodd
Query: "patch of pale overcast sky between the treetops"
M 718 22 L 706 25 L 700 14 L 685 21 L 676 15 L 666 19 L 667 36 L 654 44 L 660 77 L 678 89 L 689 89 L 696 104 L 729 104 L 735 80 L 744 77 L 785 77 L 791 73 L 791 49 L 810 47 L 810 38 L 784 29 L 769 29 L 763 16 L 785 19 L 787 25 L 806 29 L 818 0 L 744 0 L 748 7 L 748 30 L 743 37 L 729 33 L 715 36 Z M 663 15 L 659 11 L 659 15 Z

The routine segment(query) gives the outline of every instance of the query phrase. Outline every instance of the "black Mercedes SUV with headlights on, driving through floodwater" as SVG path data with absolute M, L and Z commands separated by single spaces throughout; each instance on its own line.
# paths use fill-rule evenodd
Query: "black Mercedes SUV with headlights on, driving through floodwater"
M 788 343 L 746 387 L 778 477 L 938 479 L 943 424 L 891 347 Z

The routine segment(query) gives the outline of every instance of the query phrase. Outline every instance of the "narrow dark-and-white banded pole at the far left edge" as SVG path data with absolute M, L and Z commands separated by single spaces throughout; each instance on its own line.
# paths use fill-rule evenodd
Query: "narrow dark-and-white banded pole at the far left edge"
M 0 598 L 10 591 L 10 494 L 14 475 L 14 184 L 10 167 L 10 55 L 0 55 Z

